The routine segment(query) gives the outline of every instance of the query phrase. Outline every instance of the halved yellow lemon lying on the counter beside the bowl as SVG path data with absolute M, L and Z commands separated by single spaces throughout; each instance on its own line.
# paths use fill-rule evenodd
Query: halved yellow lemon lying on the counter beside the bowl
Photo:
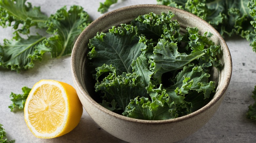
M 24 106 L 27 126 L 38 138 L 53 138 L 72 131 L 83 113 L 75 88 L 55 80 L 40 80 Z

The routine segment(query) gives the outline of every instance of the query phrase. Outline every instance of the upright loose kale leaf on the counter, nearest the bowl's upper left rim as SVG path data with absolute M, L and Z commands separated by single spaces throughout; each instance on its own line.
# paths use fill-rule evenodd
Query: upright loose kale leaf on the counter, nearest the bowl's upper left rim
M 47 32 L 54 35 L 45 43 L 51 47 L 52 57 L 70 55 L 75 39 L 90 23 L 89 15 L 80 6 L 71 6 L 69 11 L 64 6 L 52 14 L 46 24 Z

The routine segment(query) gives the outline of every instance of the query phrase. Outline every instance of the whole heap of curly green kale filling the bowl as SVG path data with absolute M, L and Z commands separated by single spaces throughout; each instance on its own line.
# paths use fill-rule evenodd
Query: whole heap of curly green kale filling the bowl
M 220 66 L 220 46 L 196 27 L 180 33 L 172 12 L 149 13 L 113 26 L 89 42 L 87 69 L 103 107 L 127 117 L 173 119 L 190 114 L 214 95 L 210 68 Z

